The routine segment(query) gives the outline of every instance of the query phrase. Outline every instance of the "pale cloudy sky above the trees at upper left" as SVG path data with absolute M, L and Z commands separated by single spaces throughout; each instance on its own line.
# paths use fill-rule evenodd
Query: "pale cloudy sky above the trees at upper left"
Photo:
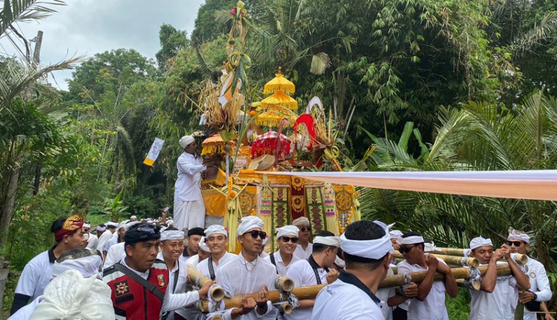
M 40 52 L 43 65 L 72 56 L 93 56 L 111 49 L 136 49 L 155 58 L 160 49 L 159 27 L 171 24 L 176 29 L 194 29 L 197 10 L 204 0 L 65 0 L 68 6 L 56 6 L 58 13 L 42 20 L 19 24 L 25 38 L 44 32 Z M 17 41 L 17 40 L 16 40 Z M 21 43 L 19 43 L 21 45 Z M 24 46 L 20 46 L 24 50 Z M 0 53 L 17 55 L 14 46 L 3 37 Z M 54 73 L 58 87 L 67 89 L 65 79 L 71 71 Z M 56 83 L 53 83 L 56 86 Z

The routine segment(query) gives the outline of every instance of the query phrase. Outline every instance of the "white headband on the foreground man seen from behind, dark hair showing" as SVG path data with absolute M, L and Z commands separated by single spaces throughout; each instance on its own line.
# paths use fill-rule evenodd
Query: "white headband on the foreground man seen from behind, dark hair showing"
M 373 221 L 385 231 L 385 235 L 380 239 L 373 240 L 351 240 L 347 239 L 345 233 L 340 236 L 340 248 L 349 255 L 368 259 L 381 259 L 387 253 L 393 253 L 393 243 L 389 235 L 389 229 L 381 221 Z

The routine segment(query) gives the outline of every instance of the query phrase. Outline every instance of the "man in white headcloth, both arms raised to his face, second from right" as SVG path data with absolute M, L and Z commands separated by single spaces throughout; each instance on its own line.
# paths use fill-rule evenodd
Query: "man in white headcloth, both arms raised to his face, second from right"
M 470 289 L 469 320 L 513 320 L 510 291 L 517 285 L 522 289 L 530 289 L 528 276 L 510 257 L 510 248 L 506 244 L 501 249 L 493 250 L 491 239 L 476 237 L 470 241 L 470 256 L 475 257 L 482 265 L 488 265 L 487 271 L 480 282 L 480 290 Z M 500 259 L 508 263 L 512 275 L 497 275 L 497 264 Z

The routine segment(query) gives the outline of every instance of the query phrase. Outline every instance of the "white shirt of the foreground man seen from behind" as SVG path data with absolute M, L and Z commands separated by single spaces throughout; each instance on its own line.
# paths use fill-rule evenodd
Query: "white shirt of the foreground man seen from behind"
M 372 296 L 354 275 L 340 271 L 338 279 L 317 294 L 311 320 L 384 320 L 382 303 Z

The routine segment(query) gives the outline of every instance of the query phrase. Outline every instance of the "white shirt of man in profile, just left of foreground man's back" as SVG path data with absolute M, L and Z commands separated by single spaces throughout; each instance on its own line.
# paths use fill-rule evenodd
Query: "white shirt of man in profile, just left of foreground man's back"
M 327 271 L 323 268 L 317 268 L 317 274 L 321 280 L 321 284 L 327 283 Z M 311 268 L 308 260 L 298 260 L 290 264 L 286 276 L 294 281 L 294 287 L 307 287 L 310 285 L 317 285 L 315 279 L 315 272 Z M 290 314 L 285 314 L 284 318 L 287 320 L 308 320 L 311 317 L 312 308 L 296 308 Z

